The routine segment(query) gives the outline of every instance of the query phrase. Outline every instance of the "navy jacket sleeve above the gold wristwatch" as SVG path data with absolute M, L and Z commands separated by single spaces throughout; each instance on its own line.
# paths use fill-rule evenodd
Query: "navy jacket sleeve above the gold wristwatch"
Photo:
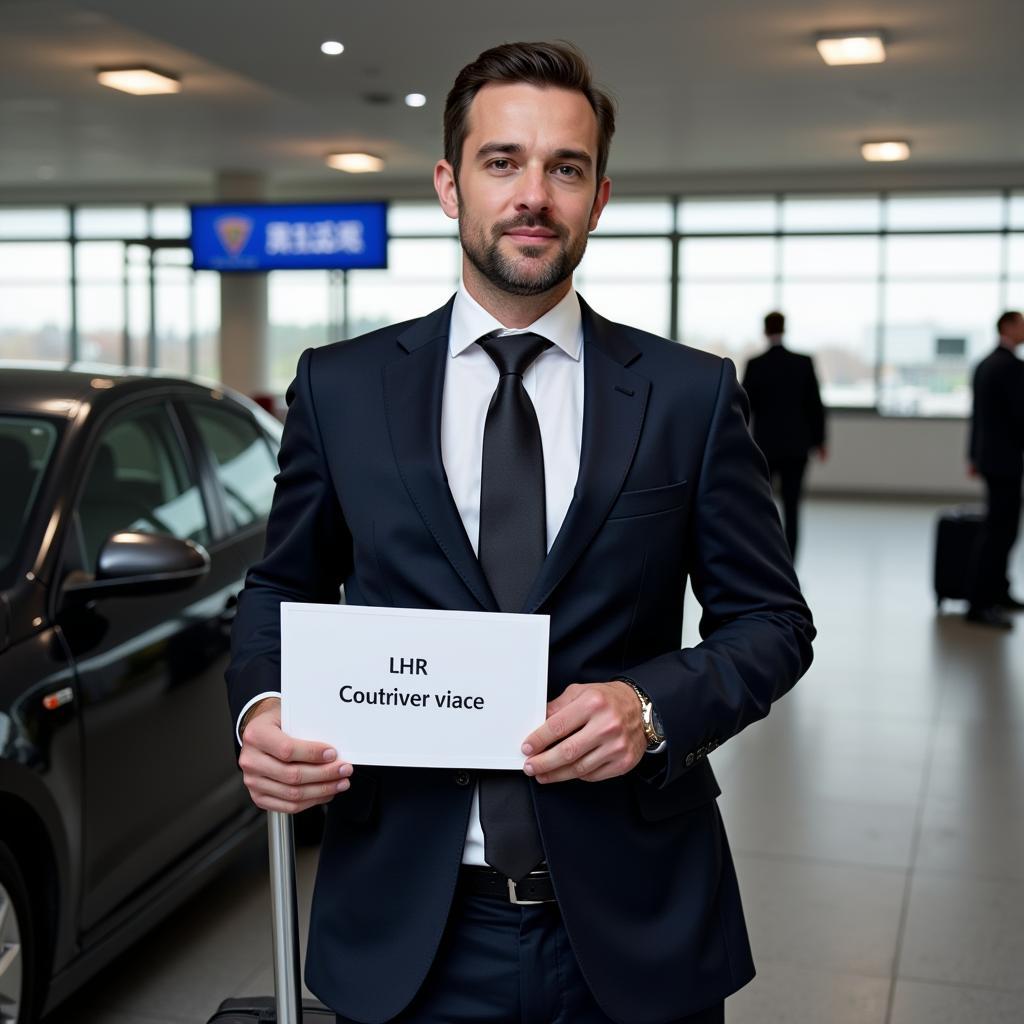
M 735 370 L 723 364 L 694 496 L 691 579 L 702 642 L 633 667 L 668 739 L 636 769 L 655 785 L 768 714 L 811 664 L 815 630 L 746 429 Z M 662 763 L 658 763 L 662 762 Z

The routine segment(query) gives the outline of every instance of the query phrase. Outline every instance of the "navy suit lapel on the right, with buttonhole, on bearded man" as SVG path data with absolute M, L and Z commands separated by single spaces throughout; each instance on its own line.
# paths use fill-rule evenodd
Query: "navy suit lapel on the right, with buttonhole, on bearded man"
M 580 475 L 558 537 L 523 611 L 532 613 L 575 564 L 607 518 L 633 464 L 650 381 L 627 369 L 640 352 L 580 300 L 584 331 L 584 417 Z

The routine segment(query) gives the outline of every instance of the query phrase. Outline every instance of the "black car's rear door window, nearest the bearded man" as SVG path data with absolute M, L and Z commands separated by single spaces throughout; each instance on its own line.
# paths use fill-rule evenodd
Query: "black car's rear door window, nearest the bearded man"
M 243 414 L 206 403 L 189 408 L 216 465 L 234 528 L 265 519 L 278 465 L 263 432 Z

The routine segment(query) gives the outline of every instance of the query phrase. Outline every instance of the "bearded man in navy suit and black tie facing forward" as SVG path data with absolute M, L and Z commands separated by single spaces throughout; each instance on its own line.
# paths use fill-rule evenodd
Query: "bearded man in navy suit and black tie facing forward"
M 732 364 L 594 312 L 613 108 L 565 45 L 449 95 L 463 284 L 310 350 L 228 673 L 260 807 L 330 801 L 306 980 L 339 1022 L 712 1024 L 754 974 L 708 755 L 814 628 Z M 687 577 L 703 642 L 680 650 Z M 281 729 L 282 601 L 551 616 L 523 772 L 353 766 Z

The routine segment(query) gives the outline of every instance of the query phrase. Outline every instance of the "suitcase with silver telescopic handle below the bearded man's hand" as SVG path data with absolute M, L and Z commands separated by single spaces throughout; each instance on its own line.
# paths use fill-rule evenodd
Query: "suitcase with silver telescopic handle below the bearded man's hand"
M 302 999 L 299 919 L 295 906 L 295 839 L 292 819 L 267 811 L 270 896 L 273 908 L 273 996 L 225 999 L 209 1024 L 334 1024 L 334 1011 Z

